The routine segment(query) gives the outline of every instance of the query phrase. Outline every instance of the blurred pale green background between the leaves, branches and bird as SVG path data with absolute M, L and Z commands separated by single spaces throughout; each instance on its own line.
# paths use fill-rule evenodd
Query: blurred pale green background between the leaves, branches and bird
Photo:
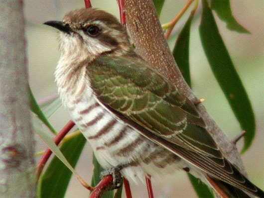
M 56 30 L 42 23 L 48 20 L 61 20 L 66 12 L 84 7 L 84 1 L 24 0 L 24 2 L 30 87 L 35 98 L 39 100 L 57 93 L 53 73 L 59 59 Z M 91 2 L 93 7 L 107 10 L 119 17 L 116 0 L 91 0 Z M 160 16 L 161 23 L 174 18 L 185 2 L 185 0 L 165 0 Z M 220 21 L 215 13 L 214 16 L 235 68 L 251 99 L 256 116 L 256 137 L 251 148 L 242 155 L 242 160 L 250 180 L 264 189 L 264 1 L 231 0 L 231 6 L 235 18 L 251 34 L 231 32 L 226 29 L 225 23 Z M 173 34 L 179 33 L 190 9 L 176 24 Z M 199 5 L 196 20 L 193 21 L 191 28 L 190 65 L 193 90 L 198 98 L 206 99 L 203 104 L 209 114 L 227 135 L 233 138 L 241 132 L 241 129 L 203 52 L 198 32 L 200 10 Z M 175 40 L 171 40 L 169 43 L 171 48 L 174 42 Z M 56 130 L 60 130 L 69 119 L 68 113 L 61 107 L 50 118 L 50 122 Z M 238 143 L 239 149 L 242 148 L 242 144 L 243 140 Z M 44 144 L 37 139 L 37 151 L 44 148 Z M 92 152 L 88 144 L 76 169 L 87 181 L 91 180 Z M 175 171 L 175 174 L 164 180 L 166 181 L 152 182 L 155 198 L 196 197 L 185 173 Z M 131 186 L 134 198 L 147 197 L 145 184 L 139 184 L 140 187 L 134 184 Z M 88 194 L 89 192 L 73 178 L 66 198 L 87 198 Z

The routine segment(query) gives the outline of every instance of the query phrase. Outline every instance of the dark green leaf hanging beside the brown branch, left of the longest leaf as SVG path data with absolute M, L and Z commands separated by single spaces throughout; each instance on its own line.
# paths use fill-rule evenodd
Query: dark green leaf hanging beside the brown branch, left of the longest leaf
M 192 23 L 193 14 L 191 14 L 182 28 L 172 55 L 181 71 L 186 83 L 191 87 L 191 74 L 189 64 L 189 43 L 190 43 L 190 28 Z

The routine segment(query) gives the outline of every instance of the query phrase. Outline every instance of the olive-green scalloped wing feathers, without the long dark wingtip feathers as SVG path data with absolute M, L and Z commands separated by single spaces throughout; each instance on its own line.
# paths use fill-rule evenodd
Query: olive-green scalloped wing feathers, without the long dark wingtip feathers
M 139 60 L 101 58 L 88 75 L 98 98 L 171 143 L 222 158 L 195 105 Z

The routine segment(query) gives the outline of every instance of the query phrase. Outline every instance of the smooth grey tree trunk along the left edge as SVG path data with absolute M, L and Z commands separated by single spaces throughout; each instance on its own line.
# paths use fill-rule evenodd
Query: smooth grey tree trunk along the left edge
M 0 0 L 0 197 L 35 197 L 22 0 Z

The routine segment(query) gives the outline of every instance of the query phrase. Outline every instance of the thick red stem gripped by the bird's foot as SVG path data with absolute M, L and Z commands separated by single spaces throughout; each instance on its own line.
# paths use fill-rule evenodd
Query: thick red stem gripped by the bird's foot
M 108 187 L 113 185 L 113 176 L 108 175 L 104 177 L 98 185 L 94 188 L 93 192 L 90 195 L 90 198 L 101 198 L 105 191 L 108 191 Z

